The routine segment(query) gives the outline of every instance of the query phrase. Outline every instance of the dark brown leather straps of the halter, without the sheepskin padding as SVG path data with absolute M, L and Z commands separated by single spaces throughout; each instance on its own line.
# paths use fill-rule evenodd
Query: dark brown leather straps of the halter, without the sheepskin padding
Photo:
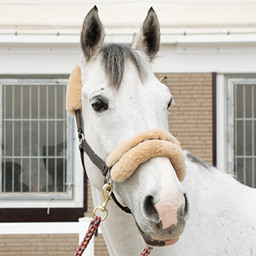
M 88 155 L 90 158 L 90 161 L 94 163 L 95 166 L 98 167 L 99 170 L 101 170 L 102 175 L 105 177 L 106 182 L 106 175 L 110 174 L 111 167 L 106 166 L 106 163 L 102 160 L 102 158 L 99 158 L 97 154 L 95 154 L 94 150 L 91 149 L 89 144 L 86 142 L 86 139 L 83 136 L 82 132 L 82 114 L 81 110 L 75 110 L 75 118 L 77 121 L 78 126 L 78 138 L 79 138 L 79 151 L 80 151 L 80 157 L 82 162 L 83 170 L 86 174 L 86 166 L 84 161 L 84 153 Z M 86 174 L 86 178 L 88 179 L 88 176 Z M 127 214 L 131 214 L 131 210 L 127 206 L 122 206 L 120 202 L 118 202 L 117 198 L 115 197 L 114 193 L 111 193 L 111 198 L 113 198 L 113 201 L 116 203 L 116 205 L 123 211 L 125 211 Z

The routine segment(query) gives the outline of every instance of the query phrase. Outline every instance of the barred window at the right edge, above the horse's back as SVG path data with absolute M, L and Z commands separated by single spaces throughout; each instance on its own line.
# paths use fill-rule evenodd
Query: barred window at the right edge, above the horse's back
M 256 187 L 256 78 L 227 79 L 227 170 Z

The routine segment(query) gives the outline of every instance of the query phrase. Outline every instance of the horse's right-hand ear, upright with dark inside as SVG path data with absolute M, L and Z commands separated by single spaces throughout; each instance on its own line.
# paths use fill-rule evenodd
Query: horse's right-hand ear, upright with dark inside
M 137 40 L 132 48 L 142 50 L 152 60 L 158 53 L 160 46 L 160 26 L 157 14 L 151 7 L 142 28 L 138 34 Z

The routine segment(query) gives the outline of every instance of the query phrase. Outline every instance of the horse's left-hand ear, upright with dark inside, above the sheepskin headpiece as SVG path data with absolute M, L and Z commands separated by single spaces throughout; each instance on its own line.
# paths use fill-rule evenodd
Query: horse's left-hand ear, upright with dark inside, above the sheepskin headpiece
M 83 54 L 88 62 L 90 58 L 96 56 L 102 46 L 105 38 L 105 32 L 102 22 L 98 18 L 98 8 L 94 6 L 93 9 L 86 15 L 82 24 L 81 32 L 81 46 Z

